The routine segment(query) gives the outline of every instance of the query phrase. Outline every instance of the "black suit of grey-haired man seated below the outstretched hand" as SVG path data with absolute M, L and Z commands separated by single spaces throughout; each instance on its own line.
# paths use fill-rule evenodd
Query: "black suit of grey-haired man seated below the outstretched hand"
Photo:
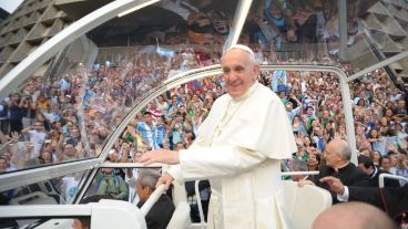
M 141 208 L 144 202 L 137 202 Z M 147 212 L 145 219 L 147 229 L 165 229 L 174 212 L 173 201 L 163 194 Z

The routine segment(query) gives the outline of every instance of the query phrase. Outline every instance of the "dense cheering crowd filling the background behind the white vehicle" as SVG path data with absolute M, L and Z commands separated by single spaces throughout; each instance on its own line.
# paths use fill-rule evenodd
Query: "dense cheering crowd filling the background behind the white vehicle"
M 1 171 L 98 156 L 106 137 L 143 95 L 169 75 L 218 61 L 220 53 L 183 49 L 174 59 L 142 54 L 124 66 L 100 64 L 90 72 L 79 66 L 52 83 L 30 79 L 1 102 Z M 353 71 L 349 63 L 341 67 Z M 346 139 L 336 75 L 275 71 L 262 72 L 259 81 L 286 106 L 298 145 L 294 157 L 317 169 L 325 145 L 335 137 Z M 406 94 L 404 81 L 396 83 L 378 70 L 353 82 L 350 97 L 359 153 L 385 170 L 407 177 Z M 188 147 L 213 102 L 224 93 L 223 77 L 214 75 L 160 95 L 136 114 L 110 159 L 132 162 L 149 148 Z M 284 169 L 293 170 L 290 165 L 285 163 Z

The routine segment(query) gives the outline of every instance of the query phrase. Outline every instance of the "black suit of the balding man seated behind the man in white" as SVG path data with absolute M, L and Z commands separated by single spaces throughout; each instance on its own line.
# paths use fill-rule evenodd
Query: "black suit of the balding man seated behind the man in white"
M 349 163 L 343 168 L 339 168 L 338 171 L 336 171 L 334 168 L 324 166 L 319 170 L 318 179 L 327 176 L 337 177 L 341 180 L 341 183 L 345 186 L 361 186 L 361 187 L 368 187 L 368 175 L 363 173 L 360 169 L 358 169 L 353 163 Z M 320 188 L 324 188 L 326 190 L 329 190 L 330 187 L 327 184 L 322 184 L 319 180 L 315 180 L 316 185 Z M 333 202 L 337 204 L 337 195 L 333 191 L 330 191 Z

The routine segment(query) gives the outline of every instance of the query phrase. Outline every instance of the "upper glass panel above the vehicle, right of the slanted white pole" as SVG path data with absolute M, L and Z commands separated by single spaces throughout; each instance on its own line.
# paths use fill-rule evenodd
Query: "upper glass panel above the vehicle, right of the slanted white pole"
M 338 40 L 337 0 L 255 0 L 241 42 L 263 63 L 335 64 Z

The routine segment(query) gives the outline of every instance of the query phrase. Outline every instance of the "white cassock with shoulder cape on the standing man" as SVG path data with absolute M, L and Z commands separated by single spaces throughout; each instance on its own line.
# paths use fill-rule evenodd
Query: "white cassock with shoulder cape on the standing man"
M 283 103 L 256 82 L 237 100 L 215 101 L 169 173 L 177 181 L 210 179 L 208 228 L 286 229 L 279 159 L 296 150 Z

